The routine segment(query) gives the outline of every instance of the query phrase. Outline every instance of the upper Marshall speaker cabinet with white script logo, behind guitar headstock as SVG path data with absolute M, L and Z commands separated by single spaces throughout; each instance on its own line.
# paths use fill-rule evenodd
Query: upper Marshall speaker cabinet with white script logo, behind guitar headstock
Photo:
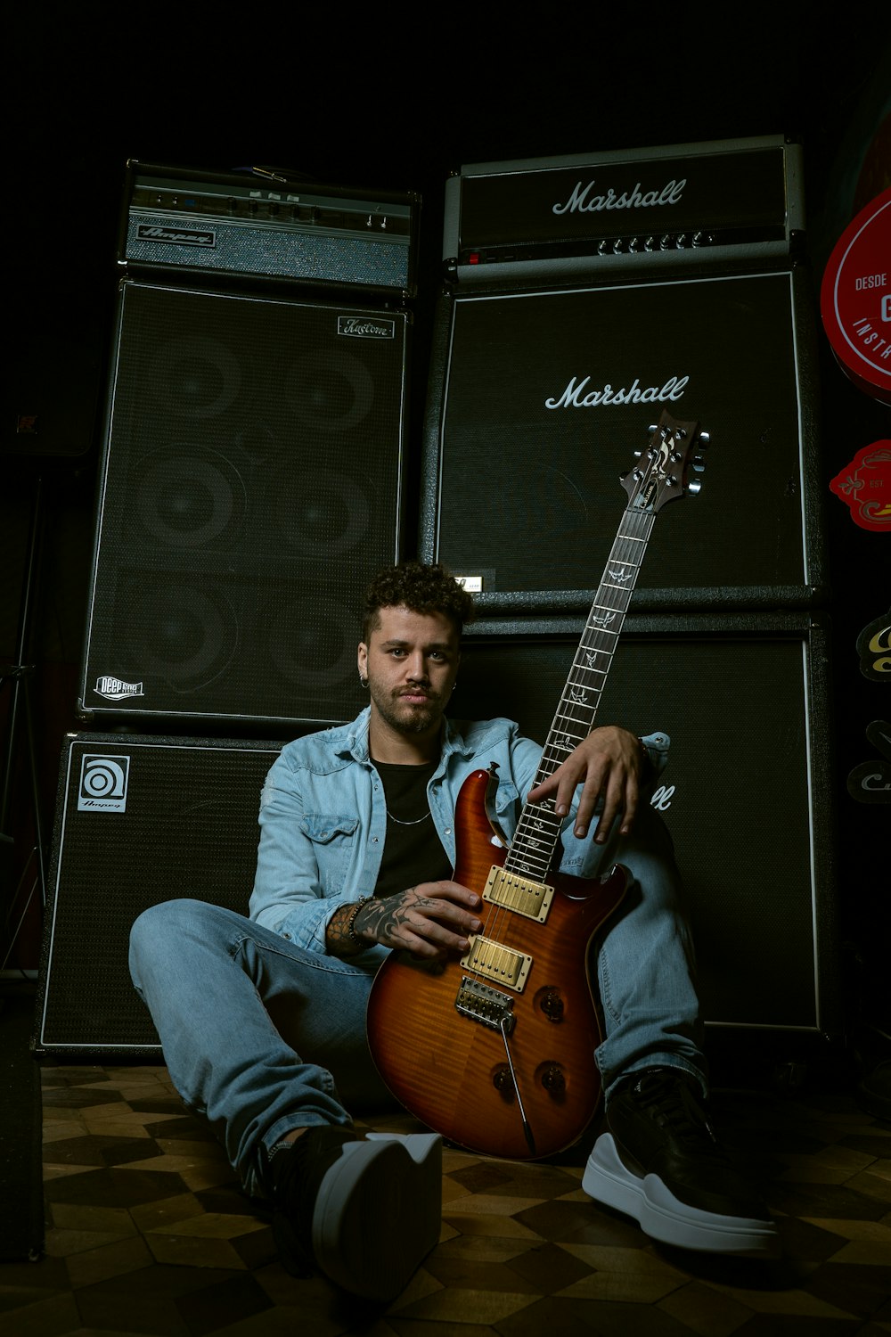
M 663 409 L 711 436 L 703 491 L 659 520 L 632 611 L 811 607 L 824 543 L 806 274 L 439 303 L 419 547 L 500 614 L 586 614 Z

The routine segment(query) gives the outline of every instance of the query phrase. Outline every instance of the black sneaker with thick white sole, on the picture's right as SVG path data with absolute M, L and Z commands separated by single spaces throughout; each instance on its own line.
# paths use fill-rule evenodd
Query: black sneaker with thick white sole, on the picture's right
M 680 1068 L 636 1072 L 606 1106 L 608 1132 L 581 1186 L 681 1249 L 772 1257 L 776 1226 L 719 1144 L 699 1086 Z

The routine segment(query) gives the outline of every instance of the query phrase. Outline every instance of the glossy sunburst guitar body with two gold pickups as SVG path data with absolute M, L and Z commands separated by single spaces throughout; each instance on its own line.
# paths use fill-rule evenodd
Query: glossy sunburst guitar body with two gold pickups
M 600 1098 L 601 1032 L 588 976 L 592 937 L 625 892 L 505 872 L 486 812 L 492 775 L 464 782 L 454 880 L 484 897 L 464 957 L 430 967 L 394 953 L 369 1001 L 369 1040 L 397 1099 L 445 1138 L 488 1155 L 536 1159 L 581 1138 Z M 546 902 L 546 904 L 545 904 Z

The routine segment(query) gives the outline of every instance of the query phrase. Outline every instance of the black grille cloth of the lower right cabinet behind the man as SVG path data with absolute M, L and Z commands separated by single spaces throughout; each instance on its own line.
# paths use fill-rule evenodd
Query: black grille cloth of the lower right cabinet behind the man
M 506 715 L 544 741 L 576 644 L 466 640 L 450 713 Z M 625 636 L 597 718 L 672 739 L 661 801 L 689 898 L 707 1021 L 814 1027 L 801 639 Z

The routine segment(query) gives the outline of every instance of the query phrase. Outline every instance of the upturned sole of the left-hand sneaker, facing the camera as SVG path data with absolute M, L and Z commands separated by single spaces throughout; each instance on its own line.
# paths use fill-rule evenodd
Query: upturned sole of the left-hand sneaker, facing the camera
M 441 1222 L 442 1138 L 369 1134 L 346 1143 L 322 1179 L 313 1253 L 343 1290 L 393 1300 L 439 1242 Z

